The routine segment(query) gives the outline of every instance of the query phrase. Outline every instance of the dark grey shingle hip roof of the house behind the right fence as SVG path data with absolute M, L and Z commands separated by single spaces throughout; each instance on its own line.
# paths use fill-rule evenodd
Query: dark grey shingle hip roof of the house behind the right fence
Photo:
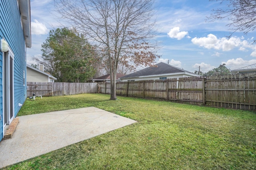
M 172 66 L 167 63 L 158 63 L 156 64 L 157 67 L 147 67 L 142 70 L 136 71 L 132 74 L 128 74 L 126 76 L 123 76 L 121 78 L 132 78 L 132 77 L 139 77 L 139 76 L 149 76 L 149 75 L 157 75 L 157 74 L 168 74 L 168 73 L 180 73 L 180 72 L 188 72 L 186 70 L 183 70 L 181 68 Z M 191 73 L 191 72 L 189 72 Z M 193 74 L 193 73 L 192 73 Z

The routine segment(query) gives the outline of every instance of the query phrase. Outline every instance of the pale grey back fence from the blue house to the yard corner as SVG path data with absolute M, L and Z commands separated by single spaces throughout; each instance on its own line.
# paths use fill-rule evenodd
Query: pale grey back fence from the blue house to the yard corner
M 64 96 L 97 93 L 97 83 L 27 82 L 27 96 Z

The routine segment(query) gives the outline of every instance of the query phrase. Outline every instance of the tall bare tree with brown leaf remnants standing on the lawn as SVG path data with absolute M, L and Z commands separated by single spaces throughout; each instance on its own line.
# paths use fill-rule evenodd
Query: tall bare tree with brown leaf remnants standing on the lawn
M 151 66 L 156 57 L 154 0 L 55 0 L 56 11 L 100 48 L 116 100 L 118 64 Z

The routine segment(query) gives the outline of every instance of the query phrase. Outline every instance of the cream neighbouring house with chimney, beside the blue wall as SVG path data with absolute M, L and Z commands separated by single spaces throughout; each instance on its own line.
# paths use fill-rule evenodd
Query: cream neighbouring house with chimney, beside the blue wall
M 27 64 L 27 82 L 54 82 L 57 80 L 54 76 L 44 72 L 44 67 L 39 70 Z

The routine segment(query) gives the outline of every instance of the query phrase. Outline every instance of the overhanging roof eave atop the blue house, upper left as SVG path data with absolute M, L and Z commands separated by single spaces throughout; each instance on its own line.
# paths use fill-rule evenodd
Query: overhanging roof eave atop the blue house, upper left
M 30 0 L 19 0 L 20 13 L 22 17 L 23 33 L 26 41 L 26 47 L 31 48 L 31 16 Z

